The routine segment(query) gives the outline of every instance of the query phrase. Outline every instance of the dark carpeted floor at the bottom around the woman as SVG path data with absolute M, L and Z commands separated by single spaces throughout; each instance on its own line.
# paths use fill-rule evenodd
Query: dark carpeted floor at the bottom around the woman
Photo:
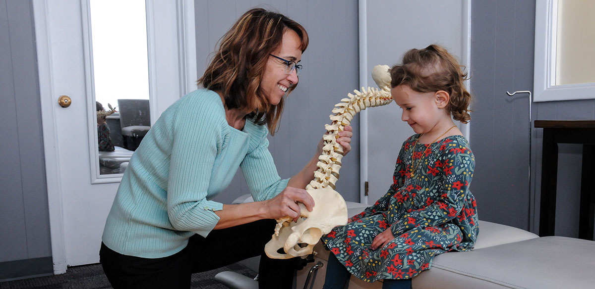
M 223 268 L 214 269 L 192 275 L 192 288 L 227 289 L 226 286 L 214 280 L 217 273 L 234 271 L 250 278 L 256 277 L 256 272 L 239 263 Z M 0 282 L 0 289 L 100 289 L 112 288 L 105 277 L 101 264 L 69 267 L 65 274 L 48 277 L 30 278 L 26 280 Z

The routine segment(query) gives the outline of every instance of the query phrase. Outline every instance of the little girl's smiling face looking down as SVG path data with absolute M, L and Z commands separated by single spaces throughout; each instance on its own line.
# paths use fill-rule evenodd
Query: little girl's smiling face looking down
M 401 120 L 407 122 L 416 134 L 428 134 L 439 127 L 445 112 L 438 106 L 436 93 L 419 93 L 401 84 L 391 88 L 390 94 L 403 110 Z

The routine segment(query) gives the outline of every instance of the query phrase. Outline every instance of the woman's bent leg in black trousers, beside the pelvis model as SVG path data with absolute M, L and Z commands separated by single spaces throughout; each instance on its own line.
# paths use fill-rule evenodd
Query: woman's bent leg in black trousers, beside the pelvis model
M 275 220 L 259 220 L 212 230 L 206 238 L 190 237 L 192 272 L 208 271 L 260 255 L 259 288 L 292 288 L 299 258 L 270 259 L 264 253 L 264 245 L 271 240 L 276 224 Z

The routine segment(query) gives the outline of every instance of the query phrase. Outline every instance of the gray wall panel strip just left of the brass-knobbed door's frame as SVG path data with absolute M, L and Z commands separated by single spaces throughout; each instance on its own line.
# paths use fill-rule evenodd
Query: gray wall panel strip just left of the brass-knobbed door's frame
M 32 7 L 29 1 L 8 1 L 11 11 L 11 51 L 18 123 L 18 145 L 23 177 L 23 202 L 27 230 L 27 258 L 51 255 L 49 212 L 43 162 L 43 136 Z

